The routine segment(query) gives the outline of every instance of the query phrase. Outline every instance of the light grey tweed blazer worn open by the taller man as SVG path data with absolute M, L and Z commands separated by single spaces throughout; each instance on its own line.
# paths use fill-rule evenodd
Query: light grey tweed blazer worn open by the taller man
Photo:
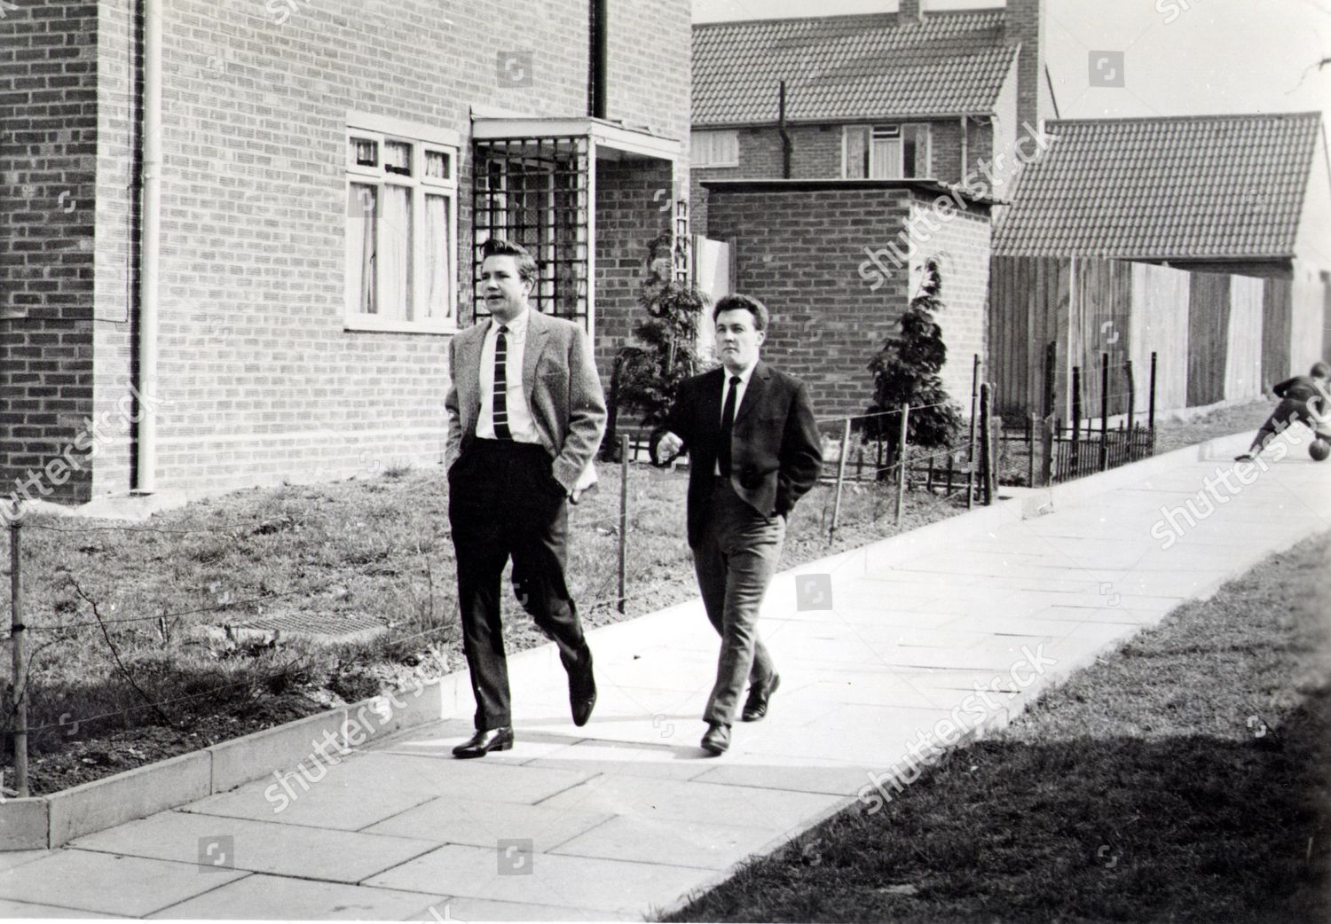
M 480 416 L 480 347 L 491 320 L 459 331 L 449 344 L 451 382 L 443 404 L 449 412 L 447 467 L 476 436 Z M 606 396 L 582 327 L 528 308 L 522 362 L 527 407 L 540 444 L 554 460 L 555 480 L 572 492 L 606 432 Z

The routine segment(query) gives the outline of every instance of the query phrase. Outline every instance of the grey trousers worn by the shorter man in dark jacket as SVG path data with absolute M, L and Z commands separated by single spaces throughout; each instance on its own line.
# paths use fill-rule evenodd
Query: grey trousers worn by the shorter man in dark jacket
M 776 667 L 757 634 L 757 612 L 776 573 L 785 541 L 785 519 L 765 517 L 717 479 L 707 525 L 693 549 L 693 570 L 707 618 L 721 635 L 716 685 L 704 722 L 733 725 L 744 685 L 765 683 Z

